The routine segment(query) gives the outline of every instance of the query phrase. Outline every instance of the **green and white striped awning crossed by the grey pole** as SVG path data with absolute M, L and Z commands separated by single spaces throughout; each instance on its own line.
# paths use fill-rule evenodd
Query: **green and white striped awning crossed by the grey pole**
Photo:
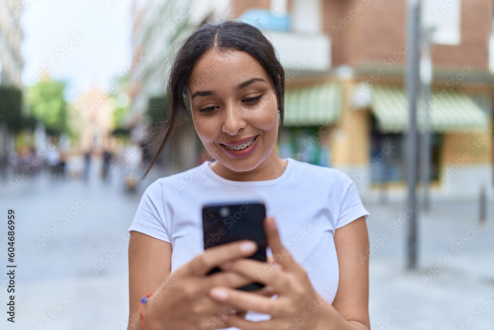
M 434 100 L 434 101 L 433 101 Z M 487 127 L 488 116 L 468 95 L 449 89 L 435 91 L 429 106 L 417 99 L 417 127 L 429 114 L 431 132 L 467 132 Z M 400 133 L 409 126 L 409 103 L 400 86 L 373 86 L 371 111 L 382 132 Z

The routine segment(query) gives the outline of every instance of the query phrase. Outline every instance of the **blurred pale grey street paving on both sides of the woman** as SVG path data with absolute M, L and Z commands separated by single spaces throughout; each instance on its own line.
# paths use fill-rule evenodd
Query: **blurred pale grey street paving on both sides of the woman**
M 160 174 L 154 169 L 132 195 L 124 193 L 118 171 L 105 184 L 97 177 L 101 163 L 92 164 L 87 185 L 41 174 L 14 191 L 1 186 L 0 208 L 14 209 L 17 219 L 16 323 L 9 329 L 126 329 L 126 230 L 143 189 Z M 419 270 L 408 272 L 407 210 L 401 204 L 364 203 L 371 212 L 372 330 L 462 329 L 459 324 L 492 329 L 492 212 L 480 225 L 476 204 L 434 204 L 429 213 L 419 211 Z M 3 228 L 1 233 L 0 246 L 6 246 Z M 6 279 L 0 277 L 2 292 Z M 6 298 L 0 296 L 2 304 Z M 484 312 L 473 311 L 482 304 Z

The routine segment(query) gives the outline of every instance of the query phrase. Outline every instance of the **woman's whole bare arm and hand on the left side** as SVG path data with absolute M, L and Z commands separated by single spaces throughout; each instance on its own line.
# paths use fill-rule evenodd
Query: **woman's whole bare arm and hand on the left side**
M 248 243 L 247 245 L 245 243 Z M 251 281 L 237 273 L 206 273 L 228 261 L 252 255 L 254 242 L 240 240 L 213 246 L 203 254 L 171 273 L 171 244 L 138 232 L 131 232 L 129 242 L 129 325 L 127 330 L 141 330 L 139 305 L 143 296 L 153 295 L 143 311 L 148 330 L 222 329 L 227 324 L 221 319 L 225 305 L 208 296 L 211 287 L 222 284 L 241 287 Z M 258 290 L 258 295 L 271 296 L 269 290 Z M 240 315 L 242 309 L 233 307 Z

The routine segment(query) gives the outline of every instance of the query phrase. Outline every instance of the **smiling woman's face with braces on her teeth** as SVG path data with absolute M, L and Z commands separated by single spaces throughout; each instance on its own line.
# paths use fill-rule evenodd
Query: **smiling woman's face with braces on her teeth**
M 250 55 L 209 49 L 196 63 L 187 92 L 197 134 L 226 170 L 251 171 L 276 156 L 277 94 Z

